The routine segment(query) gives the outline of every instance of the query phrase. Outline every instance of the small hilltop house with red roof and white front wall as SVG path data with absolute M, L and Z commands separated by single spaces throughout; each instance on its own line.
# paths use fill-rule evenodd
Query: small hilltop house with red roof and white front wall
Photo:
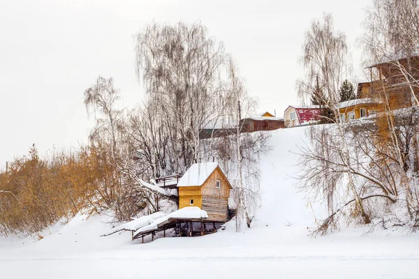
M 285 127 L 295 127 L 316 123 L 320 120 L 320 107 L 311 106 L 293 106 L 290 105 L 284 112 Z

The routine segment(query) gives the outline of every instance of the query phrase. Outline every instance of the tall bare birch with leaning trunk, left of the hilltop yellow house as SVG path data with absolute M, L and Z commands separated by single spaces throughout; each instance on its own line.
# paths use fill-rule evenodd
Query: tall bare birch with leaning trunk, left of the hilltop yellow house
M 335 31 L 333 26 L 333 20 L 331 15 L 324 15 L 323 21 L 315 20 L 311 24 L 311 29 L 306 33 L 304 40 L 304 55 L 303 63 L 306 69 L 306 77 L 304 80 L 298 82 L 299 94 L 301 97 L 310 96 L 311 92 L 316 91 L 316 88 L 320 88 L 325 100 L 325 106 L 332 112 L 329 117 L 331 121 L 335 123 L 333 133 L 329 133 L 329 130 L 323 126 L 320 128 L 311 128 L 311 139 L 314 140 L 316 146 L 325 144 L 328 137 L 337 137 L 337 143 L 339 144 L 340 157 L 342 158 L 342 170 L 346 174 L 348 193 L 353 196 L 355 206 L 353 212 L 355 216 L 360 216 L 364 223 L 370 223 L 368 214 L 365 211 L 362 199 L 358 189 L 355 186 L 355 179 L 352 169 L 352 162 L 350 159 L 350 145 L 348 144 L 348 137 L 343 125 L 339 121 L 339 86 L 344 80 L 344 70 L 346 69 L 346 36 L 344 33 Z M 320 149 L 323 151 L 321 154 L 324 160 L 319 160 L 317 163 L 321 163 L 323 167 L 330 167 L 330 153 L 327 149 Z M 307 150 L 306 150 L 307 151 Z M 311 150 L 316 151 L 317 150 Z M 302 153 L 303 160 L 310 159 L 314 154 L 308 152 Z M 307 173 L 311 173 L 316 165 L 304 169 Z M 304 172 L 303 171 L 303 172 Z M 328 174 L 328 173 L 326 173 Z M 323 175 L 323 174 L 319 174 Z M 311 176 L 313 179 L 309 185 L 315 186 L 316 175 Z M 323 191 L 324 198 L 331 201 L 332 195 L 335 193 L 337 177 L 334 175 L 326 176 L 325 187 L 327 190 Z M 335 215 L 335 209 L 332 203 L 329 203 L 330 216 Z M 328 227 L 330 224 L 329 218 L 325 220 L 325 225 Z

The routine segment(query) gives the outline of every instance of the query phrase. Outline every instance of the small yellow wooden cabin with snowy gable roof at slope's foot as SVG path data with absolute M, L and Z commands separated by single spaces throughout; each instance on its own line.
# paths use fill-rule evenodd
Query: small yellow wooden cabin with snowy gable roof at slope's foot
M 179 209 L 198 206 L 208 220 L 228 220 L 228 197 L 233 187 L 218 163 L 193 164 L 177 183 Z

